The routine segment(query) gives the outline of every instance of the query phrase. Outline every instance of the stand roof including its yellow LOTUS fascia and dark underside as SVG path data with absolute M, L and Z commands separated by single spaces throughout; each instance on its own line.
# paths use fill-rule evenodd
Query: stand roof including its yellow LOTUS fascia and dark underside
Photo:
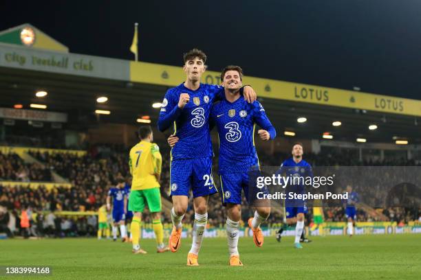
M 217 72 L 206 73 L 204 82 L 219 82 Z M 159 110 L 151 105 L 183 80 L 180 67 L 0 44 L 0 106 L 42 103 L 47 110 L 69 113 L 72 125 L 96 126 L 96 109 L 111 111 L 100 115 L 102 121 L 136 124 L 138 117 L 149 115 L 154 124 Z M 279 135 L 288 130 L 299 138 L 321 139 L 330 132 L 335 140 L 392 143 L 398 137 L 421 143 L 417 100 L 251 77 L 244 83 L 257 90 Z M 38 90 L 49 94 L 36 97 Z M 108 102 L 98 104 L 99 96 Z M 299 124 L 298 117 L 307 121 Z M 341 126 L 332 126 L 333 121 Z M 369 130 L 370 124 L 378 129 Z

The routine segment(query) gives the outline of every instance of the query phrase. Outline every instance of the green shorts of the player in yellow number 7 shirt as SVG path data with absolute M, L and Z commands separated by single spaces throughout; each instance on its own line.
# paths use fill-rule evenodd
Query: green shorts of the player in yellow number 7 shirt
M 142 213 L 146 204 L 148 204 L 149 211 L 151 212 L 161 211 L 161 193 L 159 187 L 132 190 L 130 192 L 129 211 Z

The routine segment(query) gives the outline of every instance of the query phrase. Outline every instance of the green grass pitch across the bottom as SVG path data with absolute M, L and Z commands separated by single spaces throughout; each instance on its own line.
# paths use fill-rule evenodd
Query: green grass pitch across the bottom
M 0 240 L 0 266 L 50 266 L 52 275 L 31 279 L 420 279 L 421 235 L 312 237 L 302 250 L 292 237 L 279 244 L 266 237 L 262 248 L 240 238 L 243 267 L 228 266 L 226 239 L 204 240 L 199 267 L 187 267 L 191 239 L 177 253 L 132 255 L 131 244 L 91 239 Z M 0 279 L 28 279 L 3 277 Z

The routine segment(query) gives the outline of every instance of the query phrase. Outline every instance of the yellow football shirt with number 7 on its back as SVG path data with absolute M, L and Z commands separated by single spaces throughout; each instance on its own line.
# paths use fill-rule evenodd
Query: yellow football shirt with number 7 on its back
M 131 190 L 160 187 L 155 175 L 161 174 L 162 156 L 155 143 L 140 141 L 130 150 Z

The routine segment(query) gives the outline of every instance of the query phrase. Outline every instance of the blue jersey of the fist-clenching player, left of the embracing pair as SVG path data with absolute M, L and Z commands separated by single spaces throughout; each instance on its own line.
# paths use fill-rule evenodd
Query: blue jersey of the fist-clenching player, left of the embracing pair
M 183 109 L 178 108 L 181 93 L 188 93 L 190 101 Z M 200 84 L 192 91 L 184 83 L 169 89 L 160 111 L 158 128 L 164 131 L 174 125 L 180 139 L 171 149 L 172 159 L 195 159 L 213 156 L 209 132 L 210 109 L 216 97 L 222 96 L 222 86 Z

